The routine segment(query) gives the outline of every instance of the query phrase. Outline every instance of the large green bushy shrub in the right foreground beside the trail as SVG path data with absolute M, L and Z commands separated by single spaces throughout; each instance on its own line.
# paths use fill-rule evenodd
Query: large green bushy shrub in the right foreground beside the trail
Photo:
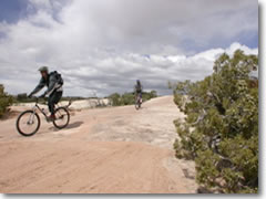
M 208 190 L 258 190 L 258 80 L 249 76 L 257 67 L 257 56 L 238 50 L 221 55 L 211 76 L 174 91 L 187 115 L 175 122 L 176 157 L 195 160 L 197 182 Z

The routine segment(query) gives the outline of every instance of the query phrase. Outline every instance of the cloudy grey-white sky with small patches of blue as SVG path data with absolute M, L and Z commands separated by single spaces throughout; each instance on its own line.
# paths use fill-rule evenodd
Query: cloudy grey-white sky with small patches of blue
M 163 95 L 236 49 L 258 53 L 256 0 L 0 1 L 0 84 L 11 94 L 31 92 L 48 65 L 64 95 L 131 92 L 136 80 Z

